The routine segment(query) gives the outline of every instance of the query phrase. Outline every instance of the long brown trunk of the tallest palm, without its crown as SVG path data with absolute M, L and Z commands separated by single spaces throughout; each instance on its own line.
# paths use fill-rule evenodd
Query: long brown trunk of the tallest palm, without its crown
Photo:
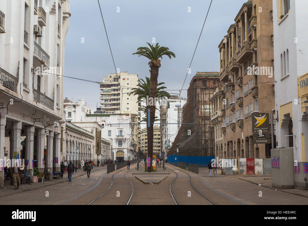
M 157 77 L 159 68 L 156 66 L 150 67 L 150 97 L 153 98 L 153 105 L 150 106 L 150 127 L 148 127 L 148 157 L 151 158 L 151 170 L 153 170 L 152 161 L 153 161 L 153 135 L 154 135 L 154 120 L 155 120 L 155 110 L 156 110 L 156 90 L 157 90 Z M 151 172 L 148 169 L 148 172 Z

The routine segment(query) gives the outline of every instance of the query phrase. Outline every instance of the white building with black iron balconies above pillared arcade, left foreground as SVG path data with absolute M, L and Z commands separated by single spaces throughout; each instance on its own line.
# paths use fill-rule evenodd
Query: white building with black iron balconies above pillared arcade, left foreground
M 67 0 L 0 1 L 0 159 L 24 159 L 30 175 L 44 162 L 51 171 L 60 165 L 69 7 Z M 0 167 L 1 188 L 3 175 Z

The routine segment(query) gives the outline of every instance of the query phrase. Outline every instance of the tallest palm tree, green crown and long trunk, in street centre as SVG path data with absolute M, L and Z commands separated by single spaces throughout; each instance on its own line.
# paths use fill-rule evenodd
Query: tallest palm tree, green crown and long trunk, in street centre
M 163 59 L 163 56 L 166 55 L 171 59 L 171 57 L 175 57 L 175 54 L 169 51 L 168 47 L 159 46 L 156 43 L 155 46 L 151 45 L 147 42 L 149 47 L 139 47 L 136 53 L 140 56 L 147 57 L 150 61 L 148 63 L 150 67 L 150 96 L 149 98 L 156 97 L 156 89 L 157 89 L 157 78 L 158 78 L 158 70 L 161 66 L 160 58 Z M 148 127 L 148 157 L 151 158 L 151 162 L 153 160 L 153 123 L 155 121 L 155 102 L 154 105 L 150 106 L 150 127 Z M 148 172 L 151 172 L 150 167 L 148 167 Z

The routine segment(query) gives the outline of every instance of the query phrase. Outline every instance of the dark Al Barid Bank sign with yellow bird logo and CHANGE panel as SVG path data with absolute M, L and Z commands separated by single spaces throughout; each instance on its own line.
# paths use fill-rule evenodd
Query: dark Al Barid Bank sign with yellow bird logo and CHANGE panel
M 252 138 L 254 144 L 270 144 L 269 113 L 252 113 Z

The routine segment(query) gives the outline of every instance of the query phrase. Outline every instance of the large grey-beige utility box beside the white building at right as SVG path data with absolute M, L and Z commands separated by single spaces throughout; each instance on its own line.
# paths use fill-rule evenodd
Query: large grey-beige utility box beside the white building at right
M 293 148 L 271 149 L 271 168 L 273 188 L 294 188 Z

